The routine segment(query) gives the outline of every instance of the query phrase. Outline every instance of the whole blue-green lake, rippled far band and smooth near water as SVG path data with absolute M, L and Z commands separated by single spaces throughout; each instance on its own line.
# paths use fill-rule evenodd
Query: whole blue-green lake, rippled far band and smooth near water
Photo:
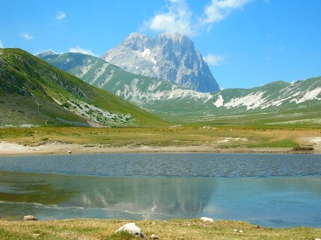
M 320 154 L 0 157 L 0 216 L 321 227 Z

